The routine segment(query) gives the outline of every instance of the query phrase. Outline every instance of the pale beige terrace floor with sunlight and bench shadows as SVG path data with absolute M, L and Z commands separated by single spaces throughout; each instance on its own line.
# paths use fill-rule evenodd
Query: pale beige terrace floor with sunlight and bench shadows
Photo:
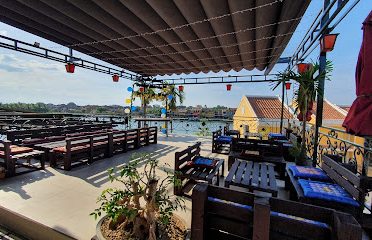
M 152 153 L 160 160 L 160 165 L 168 163 L 173 169 L 174 153 L 197 141 L 202 142 L 203 156 L 227 159 L 226 155 L 211 153 L 210 138 L 192 136 L 172 135 L 168 138 L 160 136 L 158 144 L 143 147 L 138 151 Z M 113 186 L 106 170 L 122 166 L 129 161 L 132 153 L 133 151 L 118 154 L 89 166 L 74 168 L 72 171 L 46 167 L 45 171 L 2 180 L 0 205 L 71 237 L 91 239 L 95 235 L 97 222 L 89 213 L 97 207 L 96 199 L 102 190 Z M 120 187 L 118 184 L 115 185 Z M 178 215 L 190 227 L 191 201 L 185 199 L 185 203 L 187 210 L 178 212 Z

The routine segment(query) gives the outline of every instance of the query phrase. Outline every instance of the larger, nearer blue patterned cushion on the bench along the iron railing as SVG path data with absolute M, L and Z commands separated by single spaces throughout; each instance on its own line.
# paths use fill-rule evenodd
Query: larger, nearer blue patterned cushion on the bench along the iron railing
M 307 198 L 327 200 L 359 207 L 359 203 L 346 192 L 345 189 L 335 183 L 305 179 L 299 179 L 298 183 L 304 191 L 304 196 Z

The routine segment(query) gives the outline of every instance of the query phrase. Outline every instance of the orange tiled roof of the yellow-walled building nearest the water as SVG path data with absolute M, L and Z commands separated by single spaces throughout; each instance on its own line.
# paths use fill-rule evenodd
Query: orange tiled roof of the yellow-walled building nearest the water
M 246 96 L 258 118 L 280 119 L 282 102 L 278 97 Z M 284 107 L 284 118 L 292 118 L 288 108 Z

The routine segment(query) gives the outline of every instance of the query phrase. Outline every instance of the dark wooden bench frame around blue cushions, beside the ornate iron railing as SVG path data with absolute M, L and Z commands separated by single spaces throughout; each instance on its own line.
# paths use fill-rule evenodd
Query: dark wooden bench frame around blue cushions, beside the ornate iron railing
M 286 180 L 286 187 L 290 188 L 291 199 L 347 212 L 360 219 L 363 215 L 365 197 L 367 194 L 367 189 L 370 188 L 371 178 L 352 173 L 350 170 L 326 155 L 322 155 L 321 168 L 333 180 L 334 183 L 337 183 L 343 189 L 345 189 L 359 203 L 360 206 L 355 207 L 335 201 L 305 197 L 304 191 L 298 183 L 299 179 L 294 177 L 292 171 L 287 168 L 288 178 Z

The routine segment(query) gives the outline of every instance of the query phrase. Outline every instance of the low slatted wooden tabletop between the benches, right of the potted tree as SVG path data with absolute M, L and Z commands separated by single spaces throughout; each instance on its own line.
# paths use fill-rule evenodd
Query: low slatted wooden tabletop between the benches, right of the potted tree
M 236 159 L 225 179 L 225 187 L 230 185 L 262 191 L 278 196 L 274 165 L 266 162 L 251 162 Z

